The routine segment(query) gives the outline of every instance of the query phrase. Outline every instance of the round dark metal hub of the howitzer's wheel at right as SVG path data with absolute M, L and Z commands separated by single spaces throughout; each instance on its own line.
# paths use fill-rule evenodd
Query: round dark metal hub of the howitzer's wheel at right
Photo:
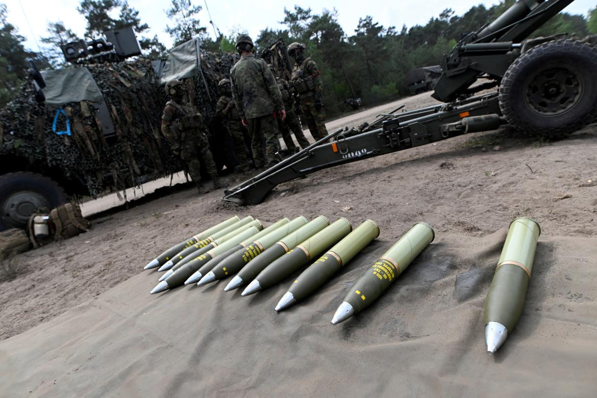
M 581 79 L 573 69 L 553 66 L 533 76 L 525 99 L 541 116 L 559 116 L 577 105 L 582 88 Z

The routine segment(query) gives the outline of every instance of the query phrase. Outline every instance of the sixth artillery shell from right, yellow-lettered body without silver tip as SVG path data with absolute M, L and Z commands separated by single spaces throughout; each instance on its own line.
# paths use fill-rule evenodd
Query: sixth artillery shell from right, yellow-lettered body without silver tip
M 276 243 L 277 240 L 296 231 L 305 224 L 307 224 L 307 219 L 300 215 L 290 221 L 290 223 L 284 224 L 267 235 L 253 240 L 253 242 L 247 245 L 244 249 L 229 255 L 226 260 L 220 261 L 217 266 L 211 269 L 211 271 L 214 273 L 216 279 L 224 279 L 225 277 L 235 274 L 251 260 L 263 253 L 264 250 Z

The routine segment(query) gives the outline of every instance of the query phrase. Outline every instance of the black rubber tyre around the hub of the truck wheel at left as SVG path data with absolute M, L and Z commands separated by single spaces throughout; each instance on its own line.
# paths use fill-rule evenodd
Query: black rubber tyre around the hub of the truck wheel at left
M 30 189 L 40 193 L 48 199 L 51 208 L 60 206 L 69 200 L 69 196 L 64 189 L 51 178 L 30 171 L 16 171 L 0 175 L 0 208 L 5 198 L 18 192 L 19 189 Z M 0 215 L 0 231 L 14 227 L 6 223 Z M 24 228 L 26 226 L 23 225 L 21 227 Z

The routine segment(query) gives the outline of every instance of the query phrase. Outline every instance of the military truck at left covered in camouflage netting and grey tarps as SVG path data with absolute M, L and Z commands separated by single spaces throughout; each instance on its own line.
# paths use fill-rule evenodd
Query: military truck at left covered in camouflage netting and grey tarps
M 233 55 L 204 51 L 192 39 L 167 60 L 130 60 L 140 54 L 132 29 L 105 36 L 64 45 L 72 66 L 40 73 L 32 65 L 19 96 L 0 110 L 0 230 L 24 227 L 35 209 L 183 169 L 160 131 L 163 85 L 170 79 L 183 79 L 209 121 L 217 166 L 237 164 L 227 150 L 232 141 L 211 122 L 217 84 L 228 77 Z

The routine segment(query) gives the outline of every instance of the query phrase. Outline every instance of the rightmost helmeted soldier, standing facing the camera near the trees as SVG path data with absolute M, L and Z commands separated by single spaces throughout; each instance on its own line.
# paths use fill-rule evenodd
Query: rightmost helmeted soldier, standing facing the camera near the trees
M 311 135 L 317 141 L 328 135 L 325 128 L 324 106 L 321 102 L 324 85 L 321 81 L 321 72 L 319 72 L 315 61 L 310 57 L 304 57 L 305 48 L 304 44 L 297 42 L 288 46 L 288 55 L 293 57 L 296 62 L 291 82 L 300 95 L 303 124 L 309 127 Z

